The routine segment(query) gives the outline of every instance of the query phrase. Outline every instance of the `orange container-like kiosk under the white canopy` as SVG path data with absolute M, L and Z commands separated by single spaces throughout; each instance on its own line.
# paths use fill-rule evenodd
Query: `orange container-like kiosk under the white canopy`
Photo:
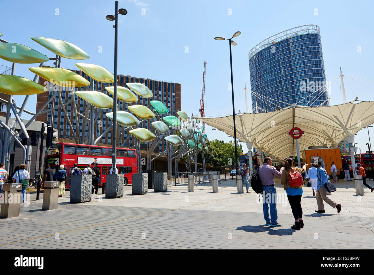
M 341 173 L 341 153 L 340 148 L 317 148 L 305 149 L 303 152 L 303 162 L 310 164 L 314 160 L 312 157 L 322 158 L 325 162 L 325 169 L 327 174 L 331 175 L 331 162 L 334 161 L 338 174 Z M 309 166 L 308 166 L 309 169 Z

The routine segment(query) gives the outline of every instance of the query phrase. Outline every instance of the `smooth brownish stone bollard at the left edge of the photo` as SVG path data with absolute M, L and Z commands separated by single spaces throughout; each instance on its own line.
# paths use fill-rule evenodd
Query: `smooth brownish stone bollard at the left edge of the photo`
M 21 207 L 21 183 L 4 183 L 0 218 L 7 219 L 19 216 Z

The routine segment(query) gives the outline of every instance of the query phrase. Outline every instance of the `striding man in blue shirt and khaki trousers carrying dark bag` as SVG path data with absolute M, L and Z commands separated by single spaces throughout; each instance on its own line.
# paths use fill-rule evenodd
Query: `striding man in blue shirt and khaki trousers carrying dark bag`
M 317 168 L 317 206 L 318 210 L 316 210 L 316 213 L 325 213 L 325 206 L 324 201 L 331 207 L 336 208 L 338 210 L 338 213 L 341 211 L 341 204 L 337 204 L 335 201 L 331 200 L 329 197 L 327 197 L 327 190 L 325 188 L 325 183 L 329 183 L 329 177 L 327 175 L 327 172 L 325 169 L 321 167 L 322 162 L 318 161 L 318 164 L 316 164 Z

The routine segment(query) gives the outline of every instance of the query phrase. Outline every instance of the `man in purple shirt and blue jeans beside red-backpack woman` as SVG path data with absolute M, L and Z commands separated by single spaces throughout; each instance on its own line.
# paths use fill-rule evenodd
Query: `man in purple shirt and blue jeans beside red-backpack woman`
M 272 166 L 272 158 L 264 158 L 264 164 L 258 169 L 258 174 L 263 185 L 263 211 L 266 225 L 282 226 L 278 223 L 277 214 L 277 191 L 275 189 L 274 176 L 281 177 L 282 173 L 278 172 Z M 270 219 L 269 219 L 269 204 L 270 204 Z

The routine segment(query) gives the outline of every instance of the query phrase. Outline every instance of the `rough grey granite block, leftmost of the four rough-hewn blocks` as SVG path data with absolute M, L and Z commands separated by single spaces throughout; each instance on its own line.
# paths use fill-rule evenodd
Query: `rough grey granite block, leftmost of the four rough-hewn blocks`
M 71 175 L 70 178 L 70 202 L 85 203 L 91 201 L 92 174 Z

